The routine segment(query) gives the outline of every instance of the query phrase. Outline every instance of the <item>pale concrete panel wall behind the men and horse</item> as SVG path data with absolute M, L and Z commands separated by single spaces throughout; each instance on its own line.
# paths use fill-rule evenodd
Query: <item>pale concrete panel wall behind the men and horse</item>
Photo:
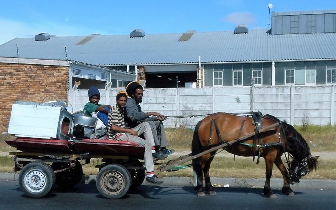
M 100 103 L 114 105 L 119 90 L 100 90 Z M 69 95 L 71 104 L 78 108 L 88 102 L 87 90 L 70 90 Z M 274 115 L 292 125 L 335 123 L 332 86 L 145 89 L 141 107 L 145 112 L 167 115 L 167 127 L 194 127 L 205 115 L 216 112 L 245 114 L 251 111 Z

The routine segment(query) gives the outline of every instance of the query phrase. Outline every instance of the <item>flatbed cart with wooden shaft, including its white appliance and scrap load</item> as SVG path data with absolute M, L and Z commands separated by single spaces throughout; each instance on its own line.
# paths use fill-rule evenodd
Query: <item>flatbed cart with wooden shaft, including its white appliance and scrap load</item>
M 26 112 L 22 109 L 26 112 L 30 111 L 27 112 L 30 115 L 23 116 Z M 38 112 L 37 109 L 39 109 Z M 45 114 L 41 114 L 41 110 L 49 115 L 46 117 Z M 53 114 L 50 114 L 51 112 Z M 36 124 L 40 123 L 39 120 L 31 124 L 22 123 L 25 117 L 29 120 L 47 119 L 48 123 L 54 123 L 56 129 L 48 130 L 52 133 L 50 136 L 48 136 L 49 132 L 40 131 L 39 127 L 22 131 L 26 127 L 36 127 Z M 146 175 L 143 163 L 144 148 L 132 142 L 87 138 L 91 133 L 85 134 L 84 130 L 92 131 L 94 122 L 91 118 L 86 119 L 83 115 L 74 116 L 59 107 L 50 109 L 48 106 L 46 108 L 34 103 L 13 105 L 8 133 L 14 134 L 17 138 L 6 140 L 6 143 L 21 151 L 10 152 L 10 155 L 14 155 L 14 171 L 21 171 L 19 185 L 27 196 L 42 198 L 49 194 L 55 185 L 62 188 L 75 186 L 83 177 L 82 165 L 89 164 L 92 158 L 101 159 L 101 164 L 95 165 L 99 169 L 96 186 L 104 197 L 121 198 L 130 189 L 135 189 L 142 184 Z M 275 123 L 258 132 L 267 131 L 278 125 L 279 123 Z M 188 154 L 170 160 L 161 164 L 155 172 L 176 170 L 179 165 L 218 149 L 225 149 L 231 144 L 244 141 L 254 135 L 255 132 L 224 142 L 197 155 Z

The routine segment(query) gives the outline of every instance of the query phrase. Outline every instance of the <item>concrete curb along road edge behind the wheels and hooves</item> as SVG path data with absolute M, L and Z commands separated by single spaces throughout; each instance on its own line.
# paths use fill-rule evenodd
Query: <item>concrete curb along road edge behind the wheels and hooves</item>
M 18 173 L 0 173 L 0 181 L 18 181 Z M 96 175 L 89 175 L 82 177 L 81 183 L 91 184 L 95 183 Z M 194 186 L 194 179 L 188 177 L 163 177 L 164 183 L 160 186 L 170 187 L 184 187 Z M 263 188 L 265 184 L 264 179 L 242 179 L 242 178 L 211 178 L 213 186 L 216 187 L 230 187 L 230 188 Z M 153 185 L 144 181 L 142 185 Z M 283 179 L 272 178 L 271 188 L 281 189 L 283 186 Z M 300 183 L 291 185 L 293 190 L 310 189 L 310 190 L 336 190 L 336 180 L 319 180 L 319 179 L 301 179 Z

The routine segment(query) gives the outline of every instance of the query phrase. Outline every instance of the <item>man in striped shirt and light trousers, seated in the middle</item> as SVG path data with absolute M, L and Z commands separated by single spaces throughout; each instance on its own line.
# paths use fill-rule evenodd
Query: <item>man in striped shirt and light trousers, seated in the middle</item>
M 125 128 L 124 107 L 128 99 L 125 91 L 120 91 L 116 96 L 116 105 L 114 105 L 108 115 L 109 139 L 130 141 L 145 148 L 145 167 L 147 170 L 146 180 L 151 183 L 161 184 L 163 180 L 154 175 L 154 164 L 151 152 L 151 143 L 138 137 L 138 133 L 132 129 Z

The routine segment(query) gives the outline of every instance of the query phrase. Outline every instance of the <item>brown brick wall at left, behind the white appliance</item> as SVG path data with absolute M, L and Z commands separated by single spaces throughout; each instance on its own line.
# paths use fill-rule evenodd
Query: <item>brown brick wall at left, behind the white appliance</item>
M 12 104 L 16 101 L 67 102 L 69 67 L 0 63 L 0 131 L 7 131 Z

